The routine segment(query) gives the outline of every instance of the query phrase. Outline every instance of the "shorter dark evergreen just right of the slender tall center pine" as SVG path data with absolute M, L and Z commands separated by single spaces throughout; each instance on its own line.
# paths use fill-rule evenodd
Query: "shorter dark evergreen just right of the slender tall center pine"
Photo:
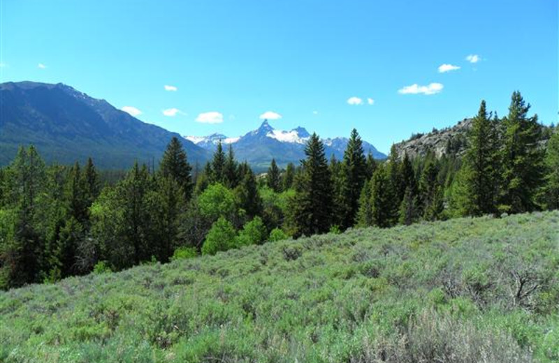
M 396 191 L 391 183 L 390 168 L 377 168 L 371 179 L 371 220 L 380 228 L 391 227 L 398 221 Z

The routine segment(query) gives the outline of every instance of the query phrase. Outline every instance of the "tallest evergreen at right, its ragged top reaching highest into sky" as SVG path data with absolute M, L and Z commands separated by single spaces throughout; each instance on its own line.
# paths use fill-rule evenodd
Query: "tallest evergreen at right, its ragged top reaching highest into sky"
M 503 119 L 503 186 L 501 209 L 510 213 L 535 209 L 535 195 L 542 185 L 543 154 L 538 147 L 537 115 L 528 117 L 530 104 L 520 92 L 512 94 L 509 114 Z

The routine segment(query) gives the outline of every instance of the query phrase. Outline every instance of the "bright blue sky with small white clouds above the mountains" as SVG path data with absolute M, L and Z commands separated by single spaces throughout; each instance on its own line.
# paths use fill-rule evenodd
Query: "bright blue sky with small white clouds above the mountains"
M 183 135 L 240 135 L 273 112 L 276 128 L 355 127 L 387 152 L 472 116 L 482 98 L 504 115 L 516 89 L 544 124 L 558 120 L 556 0 L 0 0 L 0 10 L 2 82 L 63 82 Z

